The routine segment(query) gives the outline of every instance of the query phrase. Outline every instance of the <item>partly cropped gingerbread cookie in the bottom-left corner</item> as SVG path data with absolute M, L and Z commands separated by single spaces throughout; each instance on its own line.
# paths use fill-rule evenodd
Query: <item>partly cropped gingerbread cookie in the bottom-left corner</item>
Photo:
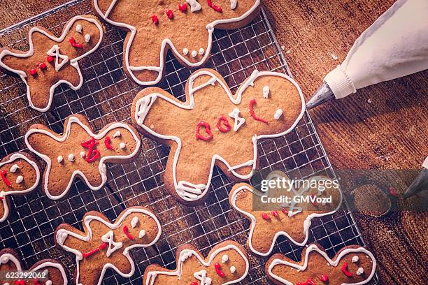
M 20 259 L 13 249 L 2 249 L 0 251 L 0 272 L 22 271 Z M 1 285 L 66 285 L 67 275 L 64 266 L 53 260 L 43 259 L 38 261 L 28 270 L 34 272 L 34 278 L 25 280 L 7 279 L 0 277 Z M 28 276 L 28 275 L 27 275 Z

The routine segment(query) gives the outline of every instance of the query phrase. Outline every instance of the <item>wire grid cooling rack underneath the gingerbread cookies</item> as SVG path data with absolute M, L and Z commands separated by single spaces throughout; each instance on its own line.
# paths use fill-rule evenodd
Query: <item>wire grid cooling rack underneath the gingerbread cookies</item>
M 67 20 L 87 13 L 92 13 L 89 1 L 70 1 L 3 29 L 0 43 L 26 50 L 30 27 L 41 25 L 58 36 Z M 99 50 L 80 61 L 85 78 L 83 87 L 77 92 L 65 85 L 57 87 L 53 101 L 55 108 L 47 113 L 31 110 L 23 82 L 0 71 L 0 157 L 25 150 L 23 135 L 34 123 L 48 124 L 61 133 L 64 119 L 74 113 L 86 115 L 96 131 L 109 122 L 129 122 L 130 104 L 141 87 L 129 80 L 122 70 L 124 36 L 123 31 L 106 25 L 106 38 Z M 219 71 L 233 91 L 255 68 L 291 75 L 263 10 L 247 27 L 216 30 L 212 56 L 206 66 Z M 190 73 L 168 54 L 166 76 L 159 86 L 183 98 Z M 262 170 L 281 169 L 295 178 L 315 174 L 336 178 L 307 112 L 291 133 L 281 138 L 260 140 L 258 144 Z M 63 200 L 49 200 L 40 187 L 27 196 L 13 197 L 10 216 L 0 224 L 0 249 L 11 247 L 17 250 L 24 268 L 41 258 L 57 258 L 73 277 L 74 256 L 55 247 L 55 228 L 65 222 L 82 229 L 83 215 L 90 210 L 102 212 L 114 221 L 125 207 L 131 205 L 150 207 L 163 225 L 162 236 L 155 246 L 132 251 L 137 264 L 133 277 L 122 278 L 108 270 L 104 284 L 142 284 L 144 269 L 150 263 L 175 269 L 175 253 L 181 244 L 191 243 L 203 254 L 208 254 L 223 240 L 245 244 L 250 224 L 229 206 L 228 193 L 233 184 L 215 168 L 205 205 L 179 205 L 163 186 L 168 154 L 168 147 L 143 138 L 143 150 L 138 159 L 133 163 L 109 166 L 108 183 L 99 191 L 91 191 L 77 181 Z M 329 256 L 349 244 L 364 245 L 346 205 L 336 214 L 313 220 L 308 242 L 314 241 L 327 249 Z M 279 238 L 273 252 L 282 252 L 299 260 L 302 248 Z M 264 275 L 266 258 L 251 254 L 249 257 L 250 272 L 242 284 L 269 284 Z M 377 277 L 373 283 L 377 283 Z

